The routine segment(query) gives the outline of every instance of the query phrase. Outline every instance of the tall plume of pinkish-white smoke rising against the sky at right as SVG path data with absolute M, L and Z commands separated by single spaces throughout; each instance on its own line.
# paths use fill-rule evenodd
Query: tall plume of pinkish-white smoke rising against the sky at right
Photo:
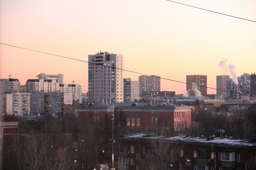
M 223 59 L 219 62 L 218 66 L 223 70 L 224 74 L 230 73 L 232 75 L 232 79 L 235 84 L 238 84 L 236 72 L 235 72 L 235 65 L 228 63 L 228 59 Z

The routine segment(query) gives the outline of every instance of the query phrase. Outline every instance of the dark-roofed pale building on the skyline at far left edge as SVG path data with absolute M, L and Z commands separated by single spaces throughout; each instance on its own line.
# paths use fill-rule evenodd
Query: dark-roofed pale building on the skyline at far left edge
M 0 79 L 0 92 L 20 92 L 21 82 L 17 78 Z

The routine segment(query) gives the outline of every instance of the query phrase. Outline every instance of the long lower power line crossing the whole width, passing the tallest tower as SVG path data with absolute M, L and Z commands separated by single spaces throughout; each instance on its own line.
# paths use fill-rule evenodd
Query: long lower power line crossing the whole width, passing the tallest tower
M 91 63 L 91 62 L 87 62 L 87 61 L 83 61 L 83 60 L 78 60 L 78 59 L 74 59 L 74 58 L 69 58 L 69 57 L 64 57 L 64 56 L 60 56 L 60 55 L 50 54 L 50 53 L 47 53 L 47 52 L 42 52 L 42 51 L 37 51 L 37 50 L 26 49 L 26 48 L 23 48 L 23 47 L 17 47 L 17 46 L 13 46 L 13 45 L 9 45 L 9 44 L 4 44 L 4 43 L 0 43 L 0 44 L 7 45 L 7 46 L 11 46 L 11 47 L 16 47 L 16 48 L 20 48 L 20 49 L 30 50 L 30 51 L 41 52 L 41 53 L 44 53 L 44 54 L 54 55 L 54 56 L 57 56 L 57 57 L 67 58 L 67 59 L 76 60 L 76 61 L 80 61 L 80 62 L 85 62 L 85 63 L 89 63 L 89 64 L 95 64 L 95 63 Z M 101 64 L 95 64 L 95 65 L 101 65 Z M 102 66 L 102 65 L 101 65 L 101 66 Z M 157 76 L 152 76 L 152 75 L 148 75 L 148 74 L 143 74 L 143 73 L 139 73 L 139 72 L 135 72 L 135 71 L 124 70 L 124 69 L 121 69 L 121 68 L 111 67 L 111 66 L 107 66 L 107 65 L 104 65 L 104 66 L 105 66 L 105 67 L 109 67 L 109 68 L 118 69 L 118 70 L 128 71 L 128 72 L 131 72 L 131 73 L 136 73 L 136 74 L 141 74 L 141 75 L 145 75 L 145 76 L 150 76 L 150 77 L 159 78 L 159 77 L 157 77 Z M 196 84 L 192 84 L 192 83 L 185 83 L 185 82 L 182 82 L 182 81 L 172 80 L 172 79 L 168 79 L 168 78 L 162 78 L 162 77 L 160 77 L 160 78 L 161 78 L 161 79 L 164 79 L 164 80 L 170 80 L 170 81 L 175 81 L 175 82 L 179 82 L 179 83 L 195 85 L 195 86 L 198 86 L 198 87 L 204 87 L 204 88 L 208 88 L 208 89 L 219 90 L 219 91 L 222 91 L 222 92 L 229 92 L 229 91 L 225 91 L 225 90 L 215 89 L 215 88 L 212 88 L 212 87 L 200 86 L 200 85 L 196 85 Z M 250 96 L 250 95 L 247 95 L 247 94 L 240 94 L 240 93 L 236 93 L 236 92 L 230 92 L 230 93 L 239 94 L 239 95 L 244 95 L 244 96 L 249 96 L 249 97 L 255 97 L 255 96 Z

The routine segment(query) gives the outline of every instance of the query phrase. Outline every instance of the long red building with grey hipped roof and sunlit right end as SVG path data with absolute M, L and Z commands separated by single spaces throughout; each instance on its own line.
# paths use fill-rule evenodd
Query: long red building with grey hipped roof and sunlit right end
M 186 123 L 191 123 L 191 106 L 180 105 L 178 103 L 168 103 L 160 101 L 140 103 L 114 103 L 114 125 L 125 123 L 127 126 L 152 127 L 161 117 L 168 118 L 173 127 L 179 128 Z M 77 107 L 79 112 L 79 124 L 83 120 L 93 118 L 94 121 L 105 120 L 106 116 L 111 115 L 111 105 L 107 102 Z

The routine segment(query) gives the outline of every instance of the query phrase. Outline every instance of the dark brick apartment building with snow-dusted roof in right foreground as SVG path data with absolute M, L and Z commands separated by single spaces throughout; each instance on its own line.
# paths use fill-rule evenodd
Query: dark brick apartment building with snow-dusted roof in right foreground
M 216 134 L 215 134 L 216 135 Z M 151 142 L 159 136 L 147 133 L 123 135 L 118 156 L 118 169 L 143 169 L 143 160 L 158 163 Z M 162 136 L 161 136 L 162 137 Z M 158 140 L 157 140 L 158 141 Z M 255 169 L 256 141 L 232 139 L 230 137 L 207 138 L 174 136 L 164 154 L 164 169 L 178 170 L 251 170 Z M 168 145 L 167 145 L 168 146 Z M 161 162 L 161 160 L 159 160 Z M 171 163 L 170 163 L 171 162 Z M 168 163 L 168 164 L 167 164 Z M 159 166 L 159 165 L 158 165 Z

